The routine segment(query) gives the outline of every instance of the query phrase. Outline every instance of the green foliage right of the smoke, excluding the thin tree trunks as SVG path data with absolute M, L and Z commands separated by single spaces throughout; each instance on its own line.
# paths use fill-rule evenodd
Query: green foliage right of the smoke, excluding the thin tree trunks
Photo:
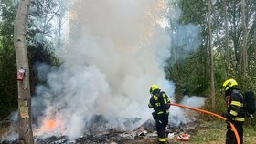
M 216 88 L 216 111 L 222 113 L 226 110 L 221 92 L 222 83 L 226 78 L 235 78 L 243 90 L 251 89 L 256 92 L 256 1 L 247 2 L 247 26 L 248 26 L 248 75 L 242 76 L 241 67 L 241 9 L 240 1 L 235 3 L 227 1 L 228 5 L 228 25 L 229 25 L 229 50 L 230 50 L 230 69 L 227 68 L 226 39 L 224 35 L 224 14 L 223 2 L 216 1 L 212 6 L 212 47 L 214 50 L 214 83 Z M 210 98 L 210 73 L 208 56 L 208 27 L 207 27 L 207 2 L 206 1 L 187 1 L 181 0 L 179 3 L 182 8 L 183 17 L 180 24 L 193 23 L 201 26 L 201 46 L 197 52 L 190 54 L 189 57 L 171 57 L 165 67 L 166 77 L 176 83 L 177 102 L 184 95 L 197 95 L 206 97 L 205 108 L 211 110 Z M 217 36 L 218 35 L 218 36 Z M 180 48 L 180 47 L 171 47 Z M 172 53 L 173 54 L 173 53 Z M 172 56 L 176 56 L 173 54 Z M 227 72 L 229 76 L 227 77 Z M 256 118 L 249 118 L 247 124 L 255 125 Z

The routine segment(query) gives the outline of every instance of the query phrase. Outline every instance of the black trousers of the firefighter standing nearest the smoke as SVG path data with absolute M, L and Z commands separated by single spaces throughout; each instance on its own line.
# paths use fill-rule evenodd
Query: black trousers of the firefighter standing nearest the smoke
M 164 144 L 167 142 L 165 130 L 166 126 L 168 125 L 168 117 L 168 113 L 156 115 L 155 123 L 159 144 Z

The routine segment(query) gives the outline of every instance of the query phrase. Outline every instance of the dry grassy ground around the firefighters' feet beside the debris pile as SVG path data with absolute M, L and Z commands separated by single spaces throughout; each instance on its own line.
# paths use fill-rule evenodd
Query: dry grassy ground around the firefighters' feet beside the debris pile
M 1 137 L 8 130 L 6 126 L 0 127 Z M 172 144 L 221 144 L 225 143 L 226 124 L 222 121 L 201 121 L 198 131 L 191 134 L 189 141 L 178 141 L 176 139 L 168 139 Z M 256 130 L 253 127 L 244 127 L 244 144 L 255 144 Z M 157 144 L 157 138 L 141 137 L 138 139 L 125 140 L 121 143 L 112 142 L 111 144 Z

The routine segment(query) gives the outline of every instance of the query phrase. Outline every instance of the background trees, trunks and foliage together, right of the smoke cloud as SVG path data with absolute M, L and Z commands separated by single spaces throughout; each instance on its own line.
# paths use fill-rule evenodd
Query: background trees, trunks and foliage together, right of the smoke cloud
M 206 107 L 220 113 L 225 108 L 224 93 L 220 90 L 227 78 L 236 79 L 244 90 L 256 91 L 256 1 L 181 0 L 178 5 L 183 12 L 180 23 L 199 25 L 201 39 L 196 53 L 186 59 L 171 57 L 165 67 L 167 78 L 176 83 L 176 100 L 184 94 L 205 96 Z M 179 51 L 172 53 L 176 55 Z M 211 83 L 215 96 L 211 96 Z M 216 99 L 215 106 L 211 105 L 211 97 Z

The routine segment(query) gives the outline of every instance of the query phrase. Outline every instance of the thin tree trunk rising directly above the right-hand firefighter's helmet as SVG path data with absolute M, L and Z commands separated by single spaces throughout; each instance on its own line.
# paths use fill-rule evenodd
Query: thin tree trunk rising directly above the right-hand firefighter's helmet
M 229 77 L 229 70 L 230 70 L 230 52 L 229 52 L 229 28 L 228 28 L 228 15 L 227 15 L 227 0 L 223 0 L 223 8 L 224 8 L 224 15 L 225 15 L 225 41 L 226 41 L 226 74 Z M 226 78 L 227 78 L 226 77 Z M 225 78 L 225 79 L 226 79 Z

